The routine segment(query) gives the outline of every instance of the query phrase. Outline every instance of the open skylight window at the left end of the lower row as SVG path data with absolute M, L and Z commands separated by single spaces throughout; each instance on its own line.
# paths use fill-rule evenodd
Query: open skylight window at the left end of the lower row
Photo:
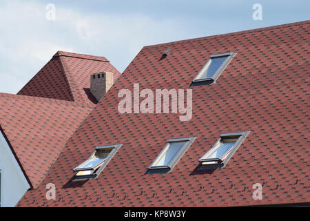
M 122 145 L 98 146 L 85 162 L 73 169 L 77 171 L 76 177 L 98 176 Z

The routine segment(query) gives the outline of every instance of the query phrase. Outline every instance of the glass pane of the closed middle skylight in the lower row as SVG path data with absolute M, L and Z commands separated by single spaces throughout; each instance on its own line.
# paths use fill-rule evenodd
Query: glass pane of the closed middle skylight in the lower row
M 167 166 L 170 162 L 172 162 L 178 151 L 180 151 L 185 143 L 186 142 L 169 142 L 165 152 L 161 155 L 160 160 L 158 160 L 154 166 Z

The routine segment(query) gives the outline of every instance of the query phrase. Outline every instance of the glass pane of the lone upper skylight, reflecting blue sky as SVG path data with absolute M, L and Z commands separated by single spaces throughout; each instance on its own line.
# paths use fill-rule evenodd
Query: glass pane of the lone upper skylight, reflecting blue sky
M 223 57 L 213 57 L 207 61 L 207 64 L 200 70 L 200 74 L 197 79 L 207 79 L 213 77 L 216 70 L 224 63 L 228 56 Z

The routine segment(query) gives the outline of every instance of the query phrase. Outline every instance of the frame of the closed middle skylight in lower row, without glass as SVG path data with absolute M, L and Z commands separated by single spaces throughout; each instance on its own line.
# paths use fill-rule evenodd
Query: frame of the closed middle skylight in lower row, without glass
M 157 155 L 155 160 L 152 162 L 152 164 L 149 166 L 149 171 L 167 171 L 170 172 L 172 169 L 174 169 L 174 166 L 176 166 L 177 162 L 180 160 L 181 157 L 183 157 L 184 153 L 187 151 L 189 146 L 192 145 L 196 137 L 182 137 L 182 138 L 172 138 L 168 140 L 167 144 L 164 146 L 164 148 L 161 150 L 161 152 Z M 174 155 L 172 160 L 169 162 L 169 164 L 165 166 L 156 166 L 155 164 L 158 163 L 159 160 L 161 160 L 161 157 L 167 152 L 170 143 L 173 142 L 185 142 L 182 148 L 180 148 L 180 151 Z

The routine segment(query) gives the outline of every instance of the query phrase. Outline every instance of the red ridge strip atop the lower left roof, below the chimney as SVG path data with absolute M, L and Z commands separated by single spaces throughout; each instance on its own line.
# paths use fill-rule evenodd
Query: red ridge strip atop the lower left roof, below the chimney
M 53 98 L 47 98 L 47 97 L 35 97 L 35 96 L 29 96 L 29 95 L 15 95 L 10 93 L 0 93 L 0 99 L 4 98 L 12 98 L 12 99 L 23 99 L 26 101 L 32 101 L 32 102 L 41 102 L 41 103 L 50 103 L 50 104 L 60 104 L 60 105 L 70 105 L 70 106 L 80 106 L 80 107 L 87 107 L 92 108 L 92 106 L 84 103 L 84 102 L 71 102 L 65 99 L 53 99 Z

